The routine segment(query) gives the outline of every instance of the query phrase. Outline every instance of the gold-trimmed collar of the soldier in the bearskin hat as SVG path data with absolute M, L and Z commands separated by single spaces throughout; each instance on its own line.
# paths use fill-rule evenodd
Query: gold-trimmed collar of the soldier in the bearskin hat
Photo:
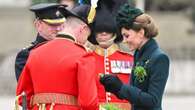
M 95 48 L 95 53 L 97 53 L 100 56 L 110 56 L 118 50 L 119 50 L 119 47 L 116 44 L 112 44 L 107 49 L 104 49 L 104 48 L 97 45 L 96 48 Z

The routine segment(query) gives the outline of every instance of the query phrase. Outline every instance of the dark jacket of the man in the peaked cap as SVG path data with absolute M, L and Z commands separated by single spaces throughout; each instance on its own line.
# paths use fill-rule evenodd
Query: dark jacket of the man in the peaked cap
M 16 55 L 16 60 L 15 60 L 15 75 L 16 79 L 18 81 L 19 76 L 24 68 L 24 65 L 26 64 L 26 61 L 28 59 L 30 51 L 36 47 L 38 44 L 47 41 L 40 35 L 37 35 L 37 38 L 34 42 L 31 43 L 31 45 L 27 48 L 22 49 L 18 54 Z

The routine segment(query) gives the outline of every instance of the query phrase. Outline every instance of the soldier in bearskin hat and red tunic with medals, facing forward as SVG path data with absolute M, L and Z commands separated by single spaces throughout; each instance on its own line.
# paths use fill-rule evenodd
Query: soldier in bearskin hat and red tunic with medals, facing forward
M 121 51 L 117 45 L 118 42 L 122 41 L 122 37 L 117 33 L 115 19 L 111 14 L 112 8 L 106 5 L 103 0 L 98 2 L 92 28 L 93 35 L 89 38 L 96 45 L 93 55 L 96 59 L 98 98 L 102 105 L 108 102 L 115 104 L 122 110 L 130 110 L 129 102 L 120 100 L 114 94 L 106 92 L 99 82 L 99 74 L 114 74 L 127 84 L 133 66 L 133 56 Z

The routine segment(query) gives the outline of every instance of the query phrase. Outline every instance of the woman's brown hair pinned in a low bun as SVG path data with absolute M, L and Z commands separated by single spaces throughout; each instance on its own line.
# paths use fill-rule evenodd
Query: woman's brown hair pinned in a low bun
M 158 28 L 156 24 L 154 23 L 153 18 L 145 13 L 135 18 L 132 29 L 135 31 L 144 29 L 145 36 L 147 38 L 156 37 L 158 35 Z

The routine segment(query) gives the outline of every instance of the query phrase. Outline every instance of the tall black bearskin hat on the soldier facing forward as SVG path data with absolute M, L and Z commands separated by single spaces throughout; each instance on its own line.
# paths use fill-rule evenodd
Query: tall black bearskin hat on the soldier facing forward
M 109 32 L 116 34 L 116 38 L 114 40 L 115 43 L 121 42 L 123 40 L 120 31 L 117 28 L 115 15 L 116 9 L 119 8 L 120 0 L 99 0 L 96 8 L 96 17 L 91 25 L 92 34 L 88 38 L 88 40 L 93 44 L 98 44 L 96 41 L 96 33 L 97 32 Z M 124 0 L 122 0 L 124 2 Z

